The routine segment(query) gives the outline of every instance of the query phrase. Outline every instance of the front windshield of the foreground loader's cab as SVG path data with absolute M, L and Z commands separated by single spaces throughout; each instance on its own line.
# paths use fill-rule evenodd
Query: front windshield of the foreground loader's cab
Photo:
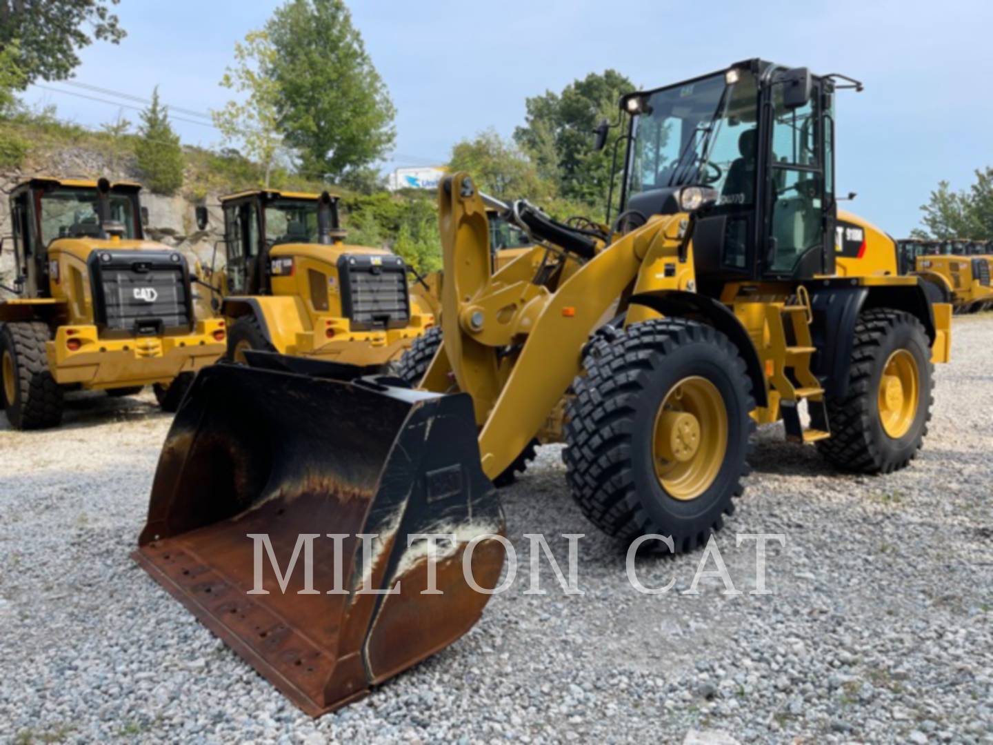
M 719 204 L 751 204 L 755 195 L 755 77 L 714 74 L 656 90 L 635 116 L 628 196 L 652 189 L 708 184 Z

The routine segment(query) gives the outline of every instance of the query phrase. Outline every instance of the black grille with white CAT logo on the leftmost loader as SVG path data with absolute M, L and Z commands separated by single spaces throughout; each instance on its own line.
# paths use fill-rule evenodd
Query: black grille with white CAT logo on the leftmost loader
M 97 250 L 89 256 L 101 336 L 188 334 L 193 306 L 186 259 L 176 251 Z

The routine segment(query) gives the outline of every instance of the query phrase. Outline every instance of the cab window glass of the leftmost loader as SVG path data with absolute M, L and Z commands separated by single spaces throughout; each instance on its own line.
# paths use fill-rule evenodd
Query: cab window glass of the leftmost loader
M 57 238 L 100 236 L 95 189 L 59 187 L 42 193 L 42 244 Z M 110 195 L 110 220 L 124 224 L 124 237 L 136 237 L 134 203 L 129 195 Z

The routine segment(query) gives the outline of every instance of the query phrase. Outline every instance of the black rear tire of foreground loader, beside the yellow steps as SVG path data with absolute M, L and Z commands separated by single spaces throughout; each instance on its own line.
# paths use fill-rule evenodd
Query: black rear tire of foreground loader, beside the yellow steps
M 880 413 L 881 382 L 888 362 L 902 351 L 917 367 L 917 410 L 906 432 L 894 437 Z M 932 371 L 930 345 L 917 317 L 887 308 L 862 313 L 855 325 L 848 393 L 827 399 L 831 437 L 818 442 L 817 449 L 843 471 L 888 474 L 906 467 L 927 434 Z

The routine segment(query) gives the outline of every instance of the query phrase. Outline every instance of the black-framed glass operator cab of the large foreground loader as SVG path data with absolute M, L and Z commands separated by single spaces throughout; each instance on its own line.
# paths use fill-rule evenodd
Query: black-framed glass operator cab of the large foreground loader
M 750 60 L 626 95 L 617 227 L 698 210 L 701 282 L 833 273 L 836 76 Z

